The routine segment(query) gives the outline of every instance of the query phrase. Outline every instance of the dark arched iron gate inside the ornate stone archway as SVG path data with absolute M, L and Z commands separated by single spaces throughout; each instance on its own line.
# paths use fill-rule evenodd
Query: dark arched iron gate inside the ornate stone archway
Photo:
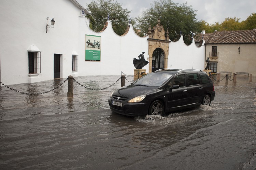
M 164 68 L 165 54 L 163 53 L 162 49 L 155 49 L 152 57 L 152 72 Z

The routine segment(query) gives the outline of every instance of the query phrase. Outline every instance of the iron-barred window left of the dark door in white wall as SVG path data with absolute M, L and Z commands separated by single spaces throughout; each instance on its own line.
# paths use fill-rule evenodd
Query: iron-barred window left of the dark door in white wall
M 41 52 L 28 52 L 28 73 L 41 73 Z

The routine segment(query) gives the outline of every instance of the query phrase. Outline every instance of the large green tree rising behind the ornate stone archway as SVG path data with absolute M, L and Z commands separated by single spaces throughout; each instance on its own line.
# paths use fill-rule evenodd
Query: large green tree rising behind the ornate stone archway
M 165 30 L 169 31 L 170 39 L 176 41 L 180 32 L 186 44 L 191 44 L 192 33 L 201 32 L 199 21 L 196 19 L 196 10 L 187 3 L 174 3 L 172 0 L 158 0 L 151 4 L 151 8 L 144 11 L 137 19 L 137 27 L 142 32 L 148 32 L 149 24 L 154 27 L 160 19 Z

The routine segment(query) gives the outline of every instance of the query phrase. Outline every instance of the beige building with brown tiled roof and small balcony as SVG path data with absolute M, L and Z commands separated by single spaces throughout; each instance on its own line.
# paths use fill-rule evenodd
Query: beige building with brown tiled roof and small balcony
M 215 31 L 202 34 L 205 60 L 212 72 L 248 72 L 256 76 L 256 30 Z

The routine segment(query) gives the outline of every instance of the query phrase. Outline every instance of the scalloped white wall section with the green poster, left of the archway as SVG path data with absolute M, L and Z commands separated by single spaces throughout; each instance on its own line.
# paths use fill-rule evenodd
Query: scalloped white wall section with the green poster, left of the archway
M 133 58 L 145 52 L 145 59 L 148 57 L 147 37 L 139 37 L 129 24 L 129 32 L 124 36 L 118 36 L 108 21 L 108 27 L 96 33 L 91 31 L 83 17 L 80 17 L 79 29 L 79 75 L 121 75 L 133 74 Z M 85 61 L 85 34 L 101 36 L 101 61 Z M 148 70 L 148 65 L 143 67 Z M 148 71 L 147 71 L 148 72 Z

